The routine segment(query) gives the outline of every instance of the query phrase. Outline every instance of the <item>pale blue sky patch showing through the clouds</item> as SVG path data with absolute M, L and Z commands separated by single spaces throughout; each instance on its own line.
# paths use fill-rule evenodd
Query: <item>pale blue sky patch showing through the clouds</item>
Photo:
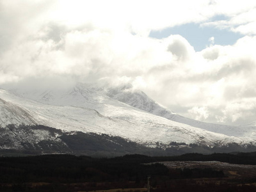
M 217 15 L 211 21 L 225 20 L 225 16 Z M 161 31 L 151 31 L 152 38 L 166 38 L 170 35 L 181 35 L 189 44 L 191 44 L 195 51 L 202 51 L 211 44 L 209 38 L 214 37 L 214 45 L 233 45 L 236 41 L 243 37 L 240 33 L 234 33 L 228 29 L 218 29 L 214 26 L 200 26 L 200 24 L 189 23 L 173 28 L 166 28 Z

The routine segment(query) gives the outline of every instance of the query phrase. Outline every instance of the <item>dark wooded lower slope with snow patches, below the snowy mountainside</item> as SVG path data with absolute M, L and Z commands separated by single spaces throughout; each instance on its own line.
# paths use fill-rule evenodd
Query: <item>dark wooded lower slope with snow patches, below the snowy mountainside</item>
M 164 154 L 124 138 L 92 132 L 63 132 L 44 125 L 8 125 L 0 129 L 0 155 L 77 154 L 122 156 L 124 154 Z M 179 152 L 177 152 L 179 154 Z

